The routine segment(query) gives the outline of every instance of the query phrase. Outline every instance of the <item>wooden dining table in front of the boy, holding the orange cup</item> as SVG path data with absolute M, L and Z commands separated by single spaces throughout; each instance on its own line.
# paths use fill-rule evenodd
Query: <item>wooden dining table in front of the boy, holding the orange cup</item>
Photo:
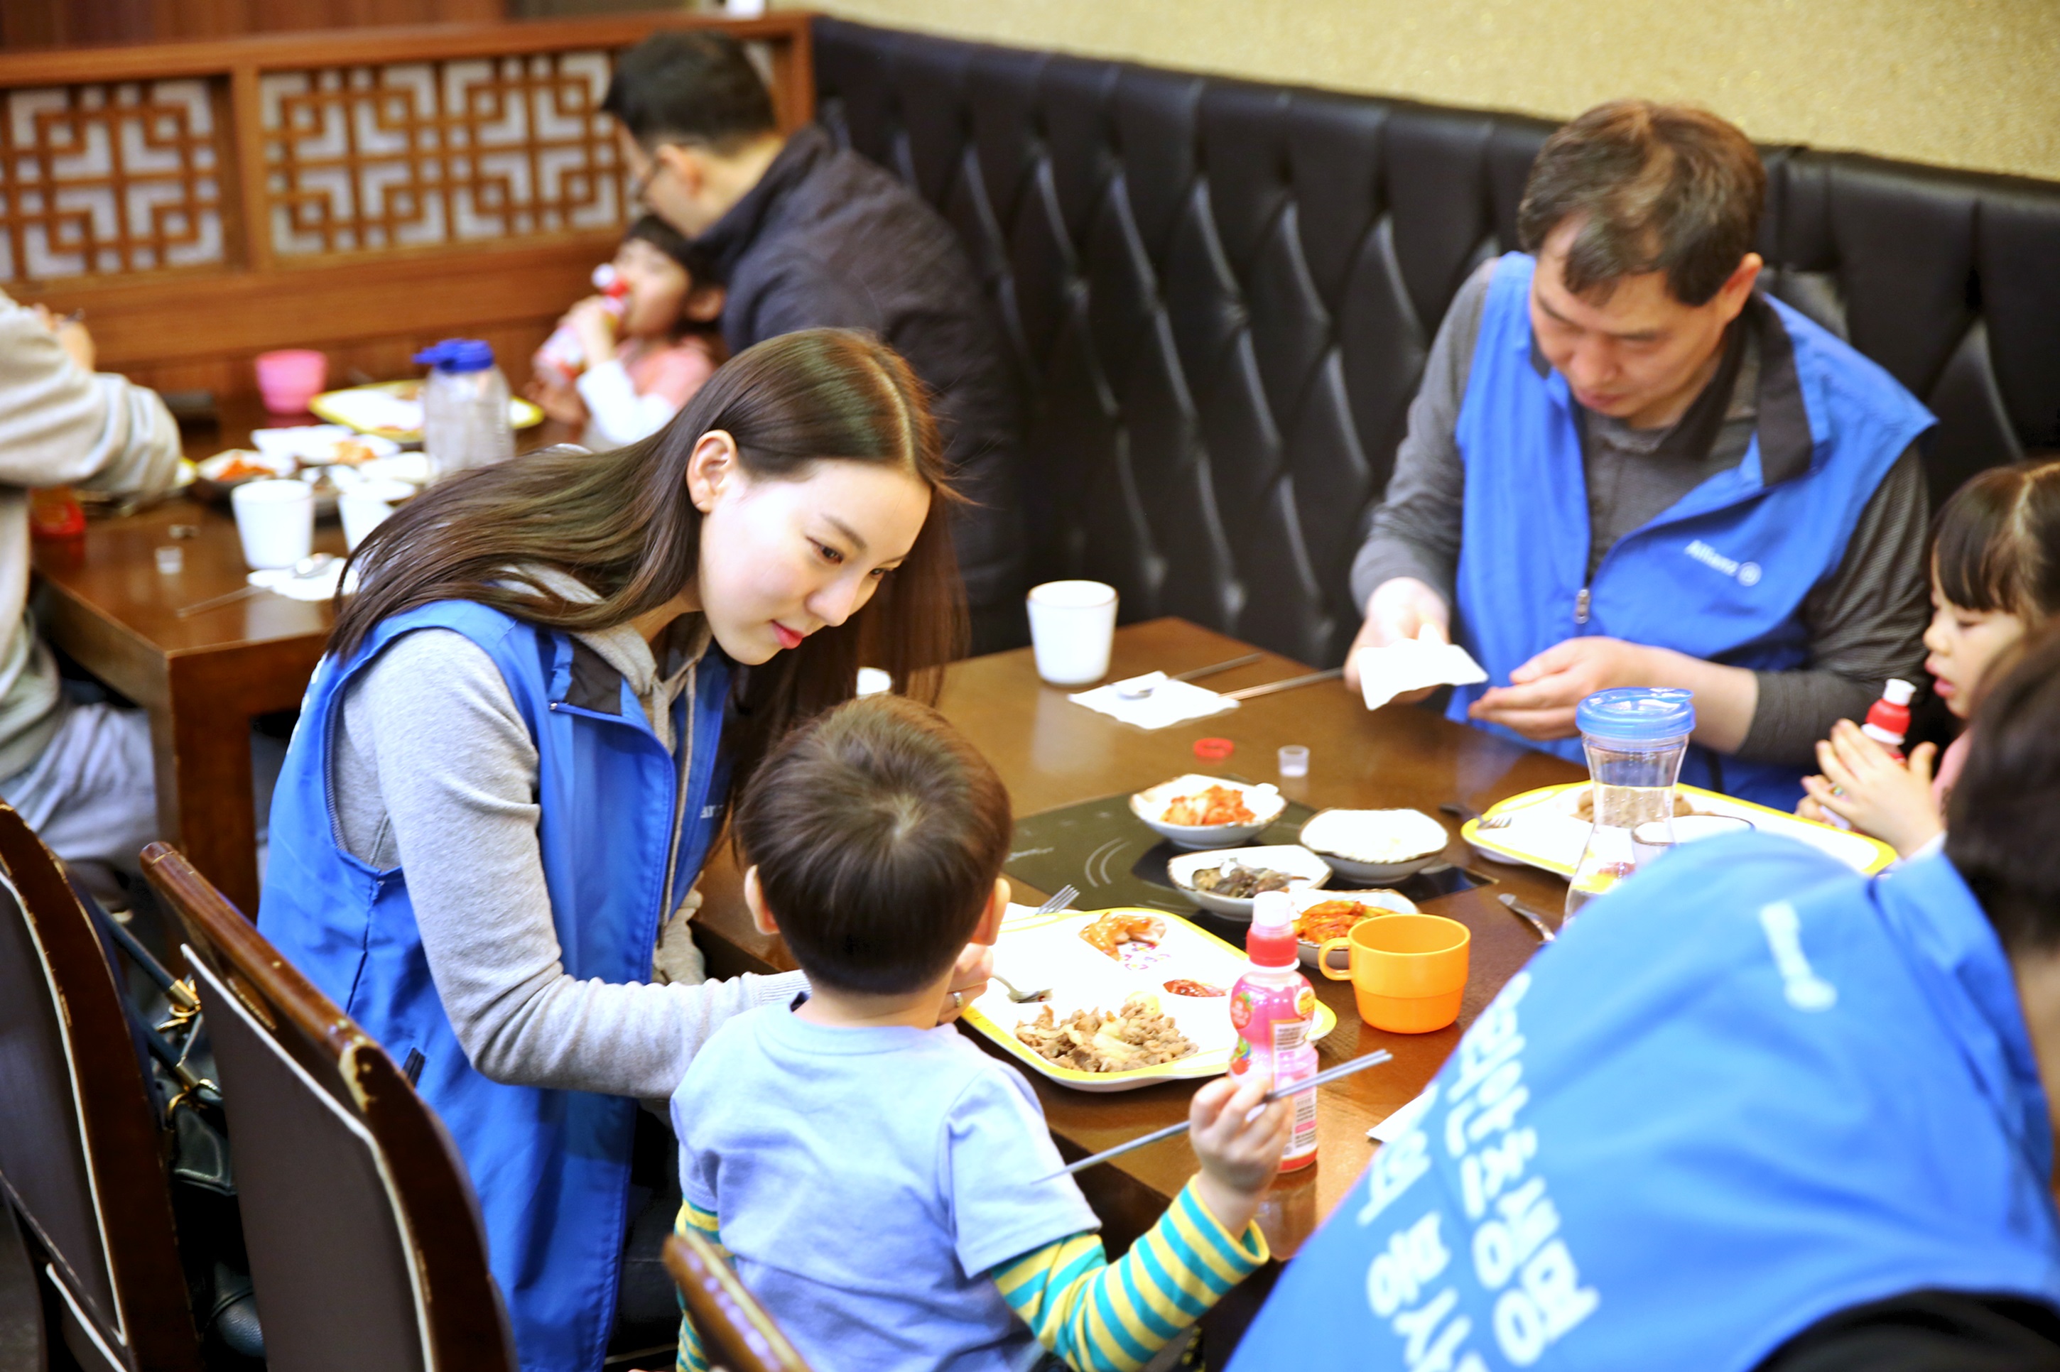
M 1176 674 L 1250 651 L 1255 649 L 1236 639 L 1187 620 L 1149 620 L 1117 630 L 1110 678 L 1152 670 Z M 1263 653 L 1259 661 L 1211 676 L 1205 684 L 1230 692 L 1304 672 L 1308 667 L 1294 659 Z M 1092 797 L 1139 791 L 1193 770 L 1273 781 L 1290 799 L 1316 810 L 1413 808 L 1432 816 L 1444 803 L 1485 810 L 1508 795 L 1586 775 L 1555 756 L 1518 748 L 1423 709 L 1388 707 L 1370 713 L 1337 680 L 1255 696 L 1224 715 L 1143 731 L 1075 705 L 1067 690 L 1042 684 L 1030 649 L 1020 649 L 956 663 L 946 678 L 939 709 L 993 760 L 1020 820 Z M 1220 762 L 1197 760 L 1199 738 L 1230 740 L 1234 752 Z M 1277 777 L 1277 750 L 1283 744 L 1310 750 L 1306 777 Z M 1531 867 L 1483 861 L 1461 843 L 1458 820 L 1444 822 L 1450 830 L 1444 859 L 1479 882 L 1421 902 L 1423 911 L 1456 919 L 1473 935 L 1458 1022 L 1432 1034 L 1376 1030 L 1360 1020 L 1349 983 L 1314 979 L 1316 995 L 1337 1014 L 1337 1028 L 1316 1044 L 1320 1065 L 1333 1067 L 1380 1049 L 1395 1061 L 1320 1088 L 1316 1166 L 1283 1174 L 1267 1191 L 1259 1224 L 1275 1261 L 1211 1314 L 1205 1325 L 1211 1362 L 1242 1333 L 1271 1290 L 1279 1263 L 1296 1253 L 1360 1178 L 1376 1147 L 1368 1129 L 1430 1084 L 1473 1018 L 1537 952 L 1539 935 L 1496 896 L 1512 892 L 1557 923 L 1566 900 L 1564 880 Z M 1026 886 L 1016 890 L 1018 900 L 1030 902 L 1046 894 Z M 717 853 L 702 878 L 702 900 L 696 919 L 711 976 L 793 966 L 777 937 L 752 927 L 727 851 Z M 1075 906 L 1096 908 L 1092 892 Z M 962 1032 L 972 1034 L 970 1028 Z M 1001 1053 L 983 1036 L 972 1036 Z M 1044 1077 L 1034 1077 L 1034 1086 L 1059 1152 L 1077 1160 L 1187 1119 L 1197 1084 L 1168 1082 L 1119 1094 L 1079 1092 Z M 1079 1174 L 1112 1255 L 1158 1220 L 1195 1174 L 1195 1152 L 1180 1135 Z

